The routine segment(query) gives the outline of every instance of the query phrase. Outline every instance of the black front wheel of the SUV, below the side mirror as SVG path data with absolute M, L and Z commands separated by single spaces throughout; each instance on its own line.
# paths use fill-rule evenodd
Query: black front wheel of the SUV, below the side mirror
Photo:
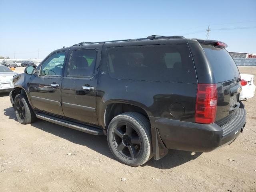
M 14 98 L 14 111 L 18 122 L 21 124 L 29 124 L 36 121 L 36 115 L 24 94 L 18 94 Z

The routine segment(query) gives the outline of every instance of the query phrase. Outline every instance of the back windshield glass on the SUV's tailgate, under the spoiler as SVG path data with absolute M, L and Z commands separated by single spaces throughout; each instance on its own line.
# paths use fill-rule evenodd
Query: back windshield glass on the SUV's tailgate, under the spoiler
M 216 82 L 224 82 L 239 77 L 236 63 L 224 48 L 202 45 L 210 62 Z

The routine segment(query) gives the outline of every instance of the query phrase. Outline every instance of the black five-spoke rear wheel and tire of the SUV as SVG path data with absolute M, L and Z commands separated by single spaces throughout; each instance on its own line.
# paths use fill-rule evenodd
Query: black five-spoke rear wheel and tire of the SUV
M 140 113 L 125 112 L 114 117 L 107 132 L 112 154 L 129 166 L 140 166 L 152 153 L 150 122 Z

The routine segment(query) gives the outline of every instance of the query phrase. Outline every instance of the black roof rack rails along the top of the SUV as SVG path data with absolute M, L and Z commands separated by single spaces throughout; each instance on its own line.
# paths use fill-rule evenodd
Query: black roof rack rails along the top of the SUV
M 74 44 L 73 46 L 81 46 L 81 45 L 88 45 L 88 44 L 105 44 L 105 43 L 114 43 L 114 42 L 141 41 L 141 40 L 154 40 L 154 39 L 174 39 L 174 38 L 184 39 L 184 36 L 151 35 L 151 36 L 148 36 L 147 38 L 138 38 L 138 39 L 122 39 L 122 40 L 100 41 L 100 42 L 80 42 L 78 44 Z

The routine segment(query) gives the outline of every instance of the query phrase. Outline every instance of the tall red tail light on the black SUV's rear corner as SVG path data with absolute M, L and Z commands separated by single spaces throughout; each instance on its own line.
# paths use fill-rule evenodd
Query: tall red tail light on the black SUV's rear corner
M 213 123 L 216 117 L 216 109 L 216 84 L 198 84 L 196 96 L 196 123 Z

